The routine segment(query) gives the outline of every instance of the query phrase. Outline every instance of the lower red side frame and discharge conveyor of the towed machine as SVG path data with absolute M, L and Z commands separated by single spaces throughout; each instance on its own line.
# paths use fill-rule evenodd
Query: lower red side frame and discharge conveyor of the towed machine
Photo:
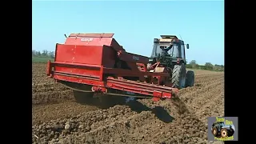
M 77 70 L 94 70 L 94 73 L 98 76 L 86 75 L 86 74 L 71 74 L 63 71 L 52 70 L 53 67 L 76 67 Z M 79 69 L 78 69 L 79 67 Z M 125 79 L 117 79 L 113 77 L 108 77 L 103 79 L 103 74 L 125 74 L 125 75 L 138 75 L 138 73 L 145 75 L 154 75 L 150 72 L 137 71 L 133 72 L 131 70 L 117 70 L 104 68 L 103 66 L 94 66 L 87 64 L 77 64 L 68 62 L 48 62 L 47 64 L 47 75 L 56 80 L 65 82 L 77 82 L 85 85 L 92 86 L 92 90 L 95 92 L 102 92 L 104 94 L 108 93 L 108 89 L 122 90 L 133 92 L 136 94 L 147 95 L 149 97 L 154 97 L 154 100 L 160 98 L 171 98 L 172 94 L 178 92 L 177 89 L 171 88 L 169 86 L 156 86 L 154 84 L 144 83 L 144 82 L 134 82 Z M 165 75 L 165 74 L 161 74 Z

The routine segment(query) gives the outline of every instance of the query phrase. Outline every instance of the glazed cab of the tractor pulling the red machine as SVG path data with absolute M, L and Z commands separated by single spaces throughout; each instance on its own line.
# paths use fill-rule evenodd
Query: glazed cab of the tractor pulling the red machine
M 189 49 L 189 45 L 186 45 Z M 183 61 L 186 64 L 185 44 L 174 35 L 161 35 L 154 38 L 154 46 L 150 62 L 160 61 L 162 63 Z

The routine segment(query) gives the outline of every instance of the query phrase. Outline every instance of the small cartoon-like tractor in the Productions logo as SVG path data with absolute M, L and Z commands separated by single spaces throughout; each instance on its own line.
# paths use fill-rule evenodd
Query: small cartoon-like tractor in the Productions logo
M 224 122 L 214 122 L 211 132 L 214 134 L 214 137 L 221 136 L 222 138 L 226 138 L 234 134 L 234 129 L 232 126 L 225 125 Z

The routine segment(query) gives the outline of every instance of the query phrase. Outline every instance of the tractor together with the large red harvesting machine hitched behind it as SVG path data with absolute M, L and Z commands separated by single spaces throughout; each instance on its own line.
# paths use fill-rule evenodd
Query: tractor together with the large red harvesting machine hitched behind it
M 107 96 L 158 101 L 194 86 L 194 72 L 186 71 L 185 44 L 176 36 L 154 38 L 147 58 L 126 52 L 113 35 L 70 34 L 64 44 L 56 44 L 46 74 L 73 90 L 77 102 L 83 103 Z

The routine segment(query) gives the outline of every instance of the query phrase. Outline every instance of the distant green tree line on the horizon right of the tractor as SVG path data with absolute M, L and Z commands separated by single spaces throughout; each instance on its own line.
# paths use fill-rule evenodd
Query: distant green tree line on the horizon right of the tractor
M 189 64 L 186 64 L 186 68 L 224 71 L 224 65 L 218 65 L 218 64 L 213 65 L 210 62 L 206 62 L 205 65 L 198 65 L 198 63 L 195 60 L 192 60 Z

